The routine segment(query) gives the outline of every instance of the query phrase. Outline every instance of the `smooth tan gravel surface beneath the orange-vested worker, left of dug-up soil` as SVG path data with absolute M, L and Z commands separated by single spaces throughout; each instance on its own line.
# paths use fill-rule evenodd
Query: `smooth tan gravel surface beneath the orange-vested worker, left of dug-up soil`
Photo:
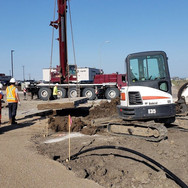
M 46 134 L 47 118 L 31 116 L 37 101 L 23 100 L 18 107 L 18 125 L 8 124 L 8 110 L 2 109 L 0 126 L 0 187 L 15 188 L 99 188 L 97 183 L 76 177 L 73 172 L 46 156 L 38 154 L 31 140 Z M 4 104 L 6 106 L 6 104 Z

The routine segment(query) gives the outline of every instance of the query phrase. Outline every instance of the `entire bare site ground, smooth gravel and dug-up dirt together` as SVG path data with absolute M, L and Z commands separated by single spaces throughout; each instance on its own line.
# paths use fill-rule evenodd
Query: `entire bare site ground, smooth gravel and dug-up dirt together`
M 173 87 L 174 97 L 177 90 Z M 8 109 L 2 109 L 0 187 L 179 187 L 153 163 L 118 147 L 152 158 L 188 184 L 188 117 L 178 117 L 168 127 L 168 139 L 148 142 L 92 127 L 93 120 L 117 115 L 116 100 L 90 101 L 74 110 L 37 114 L 40 101 L 20 96 L 18 125 L 9 125 Z M 83 152 L 70 161 L 69 141 L 70 155 Z

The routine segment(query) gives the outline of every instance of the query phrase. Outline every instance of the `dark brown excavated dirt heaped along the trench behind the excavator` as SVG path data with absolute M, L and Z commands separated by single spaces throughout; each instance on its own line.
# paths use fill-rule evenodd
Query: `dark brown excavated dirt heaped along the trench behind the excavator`
M 105 101 L 101 102 L 97 106 L 93 106 L 89 109 L 89 115 L 85 117 L 82 116 L 82 112 L 76 113 L 77 116 L 72 116 L 72 125 L 70 127 L 71 132 L 81 132 L 82 134 L 94 135 L 101 131 L 97 127 L 91 126 L 91 120 L 96 118 L 105 118 L 113 115 L 117 115 L 116 106 L 119 104 L 119 98 L 112 100 L 111 102 Z M 74 112 L 75 113 L 75 112 Z M 55 132 L 68 132 L 68 116 L 52 116 L 48 120 L 49 129 Z

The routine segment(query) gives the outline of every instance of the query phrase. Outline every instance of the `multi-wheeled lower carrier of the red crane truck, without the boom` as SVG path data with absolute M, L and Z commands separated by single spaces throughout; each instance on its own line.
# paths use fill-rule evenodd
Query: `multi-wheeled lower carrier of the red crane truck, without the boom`
M 35 93 L 41 100 L 52 99 L 54 83 L 30 84 L 27 91 Z M 60 98 L 88 97 L 113 99 L 120 95 L 121 87 L 126 86 L 124 74 L 101 74 L 96 75 L 92 83 L 62 83 L 58 84 Z

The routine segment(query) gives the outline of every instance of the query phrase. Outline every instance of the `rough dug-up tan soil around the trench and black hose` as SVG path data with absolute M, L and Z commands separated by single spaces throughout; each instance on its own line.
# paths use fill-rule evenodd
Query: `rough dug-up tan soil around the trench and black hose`
M 91 127 L 91 120 L 117 115 L 117 102 L 116 100 L 112 103 L 95 101 L 78 109 L 57 111 L 56 116 L 51 115 L 48 118 L 49 129 L 45 129 L 47 124 L 43 124 L 45 125 L 43 131 L 32 134 L 32 141 L 36 144 L 35 149 L 45 157 L 48 156 L 53 161 L 62 164 L 77 177 L 93 180 L 103 187 L 179 187 L 162 169 L 148 160 L 118 149 L 93 149 L 66 162 L 69 156 L 68 139 L 55 143 L 44 142 L 65 138 L 70 114 L 73 122 L 71 132 L 83 133 L 81 137 L 71 138 L 71 155 L 97 146 L 130 148 L 156 160 L 188 184 L 188 118 L 177 118 L 173 126 L 168 127 L 168 139 L 158 143 L 131 136 L 112 136 L 103 130 Z M 37 104 L 38 101 L 35 100 L 32 103 L 29 100 L 23 101 L 18 109 L 18 115 L 25 116 L 34 111 L 36 106 L 34 103 Z M 28 104 L 31 106 L 29 107 Z M 26 122 L 25 118 L 22 119 L 22 124 L 24 121 Z M 46 119 L 40 121 L 43 122 Z M 44 137 L 44 134 L 48 136 Z M 88 187 L 90 187 L 89 184 Z

